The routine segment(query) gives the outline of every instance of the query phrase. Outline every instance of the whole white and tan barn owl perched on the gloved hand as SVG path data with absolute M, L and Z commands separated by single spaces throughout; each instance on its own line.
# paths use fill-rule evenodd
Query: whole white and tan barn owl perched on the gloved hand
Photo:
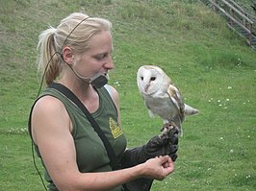
M 137 84 L 149 115 L 159 115 L 164 124 L 174 124 L 180 135 L 183 134 L 181 124 L 185 116 L 199 112 L 183 102 L 178 87 L 158 66 L 141 66 L 137 73 Z

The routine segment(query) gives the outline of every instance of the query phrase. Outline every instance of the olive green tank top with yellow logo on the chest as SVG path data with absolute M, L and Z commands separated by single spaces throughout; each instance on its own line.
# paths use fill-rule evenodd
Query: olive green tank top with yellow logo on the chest
M 126 148 L 126 139 L 117 123 L 117 109 L 105 87 L 97 88 L 96 90 L 99 95 L 99 107 L 91 115 L 105 133 L 115 151 L 115 155 L 119 159 Z M 91 127 L 84 112 L 54 88 L 46 88 L 40 97 L 45 95 L 54 96 L 62 101 L 69 114 L 73 126 L 72 136 L 74 138 L 79 171 L 81 173 L 112 171 L 110 158 L 103 142 Z M 36 151 L 40 157 L 37 145 Z M 50 191 L 58 190 L 46 169 L 45 179 L 50 183 L 48 185 Z M 114 190 L 120 191 L 121 187 L 118 186 Z

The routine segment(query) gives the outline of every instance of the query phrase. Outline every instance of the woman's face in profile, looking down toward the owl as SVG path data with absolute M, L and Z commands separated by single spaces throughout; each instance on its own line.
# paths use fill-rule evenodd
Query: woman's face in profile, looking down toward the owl
M 113 50 L 112 36 L 110 32 L 102 32 L 90 38 L 90 49 L 75 57 L 74 69 L 85 78 L 91 78 L 101 72 L 105 75 L 114 68 L 111 57 Z

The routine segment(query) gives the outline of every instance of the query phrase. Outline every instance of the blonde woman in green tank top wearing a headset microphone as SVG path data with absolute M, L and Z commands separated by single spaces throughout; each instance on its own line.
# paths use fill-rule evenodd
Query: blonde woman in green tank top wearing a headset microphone
M 122 161 L 133 157 L 133 162 L 140 161 L 114 171 L 88 118 L 62 93 L 48 87 L 32 108 L 29 128 L 45 167 L 49 190 L 122 190 L 125 182 L 165 179 L 174 170 L 170 152 L 161 144 L 157 149 L 161 153 L 154 155 L 142 154 L 145 147 L 125 152 L 118 94 L 105 80 L 114 68 L 111 26 L 106 19 L 78 12 L 70 14 L 56 29 L 51 27 L 40 34 L 38 70 L 46 85 L 64 85 L 88 108 L 118 160 L 125 153 Z M 171 152 L 175 154 L 176 150 Z

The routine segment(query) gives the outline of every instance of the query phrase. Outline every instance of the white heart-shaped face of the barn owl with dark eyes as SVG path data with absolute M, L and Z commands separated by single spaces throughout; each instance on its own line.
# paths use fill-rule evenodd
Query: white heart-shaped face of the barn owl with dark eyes
M 142 94 L 150 95 L 159 91 L 165 85 L 166 74 L 154 65 L 143 65 L 137 73 L 137 84 Z

